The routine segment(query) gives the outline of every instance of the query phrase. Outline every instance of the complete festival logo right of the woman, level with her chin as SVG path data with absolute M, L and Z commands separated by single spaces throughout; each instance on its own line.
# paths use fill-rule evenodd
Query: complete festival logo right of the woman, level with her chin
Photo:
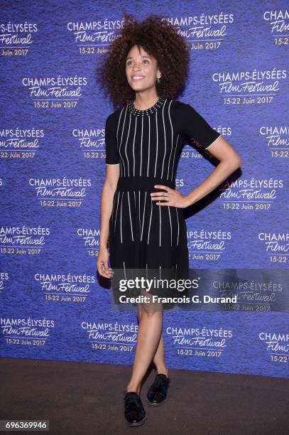
M 218 85 L 224 104 L 270 104 L 279 92 L 287 70 L 278 68 L 251 71 L 222 71 L 213 73 L 212 81 Z

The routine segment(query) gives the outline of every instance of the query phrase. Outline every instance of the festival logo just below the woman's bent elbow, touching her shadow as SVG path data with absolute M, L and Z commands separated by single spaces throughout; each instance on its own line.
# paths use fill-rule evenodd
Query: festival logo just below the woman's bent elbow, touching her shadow
M 278 203 L 284 181 L 274 178 L 239 178 L 225 181 L 219 187 L 225 210 L 269 210 Z

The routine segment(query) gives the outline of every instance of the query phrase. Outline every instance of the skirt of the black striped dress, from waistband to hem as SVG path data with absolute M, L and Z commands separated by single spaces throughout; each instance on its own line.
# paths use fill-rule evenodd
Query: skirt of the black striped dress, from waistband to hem
M 119 177 L 109 219 L 109 262 L 114 271 L 111 287 L 116 292 L 121 280 L 143 277 L 158 280 L 159 285 L 150 289 L 151 294 L 163 297 L 184 294 L 175 289 L 172 281 L 188 277 L 183 209 L 157 205 L 151 192 L 165 190 L 154 188 L 156 184 L 175 188 L 175 181 L 160 178 Z M 140 292 L 136 286 L 126 289 L 126 294 Z

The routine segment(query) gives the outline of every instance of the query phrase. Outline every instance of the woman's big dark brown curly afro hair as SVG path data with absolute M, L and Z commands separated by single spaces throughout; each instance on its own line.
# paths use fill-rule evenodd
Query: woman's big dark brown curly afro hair
M 161 16 L 151 15 L 138 23 L 131 14 L 124 14 L 124 26 L 97 68 L 97 78 L 114 106 L 135 99 L 126 78 L 126 56 L 133 45 L 156 58 L 162 74 L 160 84 L 156 83 L 158 97 L 174 99 L 185 86 L 189 72 L 190 54 L 185 39 L 174 26 L 163 23 Z

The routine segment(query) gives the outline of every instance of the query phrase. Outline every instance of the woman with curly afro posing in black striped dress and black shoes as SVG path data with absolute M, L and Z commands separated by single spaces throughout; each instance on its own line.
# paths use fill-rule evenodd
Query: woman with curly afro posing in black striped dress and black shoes
M 180 276 L 178 272 L 186 271 L 188 265 L 182 209 L 217 188 L 241 166 L 241 160 L 190 104 L 174 99 L 185 84 L 189 65 L 187 45 L 175 28 L 163 25 L 158 16 L 142 23 L 129 14 L 125 18 L 129 19 L 99 70 L 99 80 L 121 107 L 107 117 L 105 126 L 107 166 L 97 270 L 113 279 L 116 274 L 128 279 L 150 272 L 163 278 L 168 271 Z M 219 164 L 200 186 L 182 195 L 175 188 L 176 166 L 183 139 L 192 137 L 202 149 L 209 148 Z M 115 283 L 117 286 L 119 281 Z M 152 360 L 156 379 L 147 393 L 148 404 L 162 404 L 169 383 L 163 306 L 153 303 L 153 291 L 146 286 L 141 286 L 138 294 L 148 298 L 137 304 L 136 353 L 124 394 L 129 426 L 146 419 L 139 394 Z

